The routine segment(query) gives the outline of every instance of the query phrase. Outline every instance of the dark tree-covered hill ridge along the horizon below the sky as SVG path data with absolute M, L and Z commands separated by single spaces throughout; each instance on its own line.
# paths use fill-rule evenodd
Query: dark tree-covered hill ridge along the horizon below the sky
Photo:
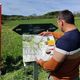
M 55 18 L 58 15 L 59 11 L 48 12 L 41 16 L 36 16 L 34 14 L 30 16 L 22 16 L 22 15 L 2 15 L 3 20 L 26 20 L 26 19 L 34 19 L 34 18 Z M 76 17 L 80 17 L 80 13 L 74 13 Z

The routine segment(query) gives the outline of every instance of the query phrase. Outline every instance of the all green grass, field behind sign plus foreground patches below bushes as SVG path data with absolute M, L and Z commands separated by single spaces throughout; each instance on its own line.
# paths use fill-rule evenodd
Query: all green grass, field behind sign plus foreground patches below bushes
M 13 32 L 12 29 L 19 24 L 29 24 L 29 23 L 53 23 L 57 26 L 56 19 L 32 19 L 32 20 L 12 20 L 4 21 L 2 25 L 2 41 L 1 41 L 1 53 L 3 60 L 5 62 L 7 56 L 13 56 L 17 58 L 22 56 L 22 36 Z M 76 26 L 80 30 L 80 20 L 76 20 Z M 6 75 L 0 77 L 0 80 L 22 80 L 23 73 L 21 73 L 23 68 L 9 72 Z M 40 73 L 40 80 L 45 80 L 43 75 L 45 72 Z M 21 77 L 22 76 L 22 77 Z M 17 79 L 16 79 L 17 78 Z M 21 79 L 20 79 L 21 78 Z M 42 79 L 41 79 L 42 78 Z

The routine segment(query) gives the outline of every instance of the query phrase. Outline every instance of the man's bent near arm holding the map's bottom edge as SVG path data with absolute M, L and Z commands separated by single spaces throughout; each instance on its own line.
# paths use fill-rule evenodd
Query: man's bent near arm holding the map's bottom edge
M 57 52 L 56 50 L 54 51 L 54 55 L 52 56 L 52 58 L 48 61 L 43 61 L 43 60 L 39 60 L 37 61 L 45 70 L 47 71 L 53 71 L 55 70 L 60 64 L 61 62 L 64 60 L 65 58 L 65 54 L 62 54 L 60 52 Z

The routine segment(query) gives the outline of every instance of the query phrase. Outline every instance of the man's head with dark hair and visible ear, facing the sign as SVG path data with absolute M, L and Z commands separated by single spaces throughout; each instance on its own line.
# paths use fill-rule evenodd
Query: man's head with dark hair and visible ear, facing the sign
M 74 25 L 74 15 L 69 10 L 59 11 L 58 26 L 64 32 L 66 25 Z

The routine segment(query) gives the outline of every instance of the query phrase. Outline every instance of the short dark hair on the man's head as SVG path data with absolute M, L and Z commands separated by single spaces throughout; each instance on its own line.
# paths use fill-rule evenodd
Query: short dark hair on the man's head
M 63 19 L 66 21 L 66 23 L 69 24 L 74 24 L 74 15 L 71 11 L 69 10 L 63 10 L 63 11 L 59 11 L 58 14 L 58 19 Z

